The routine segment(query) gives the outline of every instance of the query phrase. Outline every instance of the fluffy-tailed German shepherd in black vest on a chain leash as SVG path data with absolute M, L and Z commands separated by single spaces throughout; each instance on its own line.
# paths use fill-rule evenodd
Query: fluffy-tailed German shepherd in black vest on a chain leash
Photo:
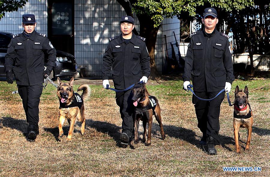
M 59 107 L 59 138 L 64 135 L 62 126 L 64 124 L 65 118 L 70 125 L 67 140 L 71 140 L 75 119 L 77 118 L 79 122 L 82 122 L 81 134 L 85 132 L 85 115 L 84 115 L 84 105 L 85 101 L 90 93 L 91 89 L 87 84 L 82 84 L 79 86 L 77 91 L 82 90 L 82 95 L 75 93 L 73 91 L 73 82 L 74 78 L 72 77 L 69 83 L 62 83 L 60 78 L 57 78 L 58 88 L 57 96 L 59 98 L 60 107 Z

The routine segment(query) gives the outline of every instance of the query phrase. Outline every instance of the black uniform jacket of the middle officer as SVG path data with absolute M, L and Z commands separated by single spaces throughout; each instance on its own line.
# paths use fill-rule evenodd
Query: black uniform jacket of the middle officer
M 125 89 L 139 82 L 142 76 L 150 76 L 150 57 L 145 38 L 132 34 L 126 44 L 122 34 L 110 38 L 103 56 L 102 79 L 113 76 L 114 87 Z M 111 71 L 112 67 L 112 71 Z

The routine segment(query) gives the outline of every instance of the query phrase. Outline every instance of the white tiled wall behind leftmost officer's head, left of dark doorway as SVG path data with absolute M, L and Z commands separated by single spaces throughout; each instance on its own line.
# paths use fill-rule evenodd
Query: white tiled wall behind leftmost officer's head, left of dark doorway
M 0 20 L 0 31 L 10 32 L 13 34 L 22 33 L 22 15 L 34 14 L 37 22 L 35 30 L 37 32 L 47 34 L 48 27 L 48 13 L 47 0 L 28 0 L 23 8 L 18 11 L 7 12 Z

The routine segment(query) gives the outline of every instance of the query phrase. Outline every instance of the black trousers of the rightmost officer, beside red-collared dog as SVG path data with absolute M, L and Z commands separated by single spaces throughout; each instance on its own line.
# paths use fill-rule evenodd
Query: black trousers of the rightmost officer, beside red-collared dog
M 194 93 L 204 99 L 214 98 L 217 92 L 195 92 Z M 202 101 L 196 96 L 192 96 L 192 103 L 195 107 L 195 112 L 198 120 L 198 128 L 202 133 L 206 133 L 207 136 L 214 137 L 219 143 L 218 132 L 220 130 L 219 125 L 219 114 L 220 104 L 222 103 L 225 96 L 225 92 L 222 92 L 212 101 Z

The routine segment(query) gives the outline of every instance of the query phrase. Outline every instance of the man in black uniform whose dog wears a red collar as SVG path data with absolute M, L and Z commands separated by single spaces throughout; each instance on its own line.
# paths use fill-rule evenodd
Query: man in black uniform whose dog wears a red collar
M 190 34 L 185 58 L 184 89 L 187 90 L 192 77 L 194 93 L 204 99 L 214 98 L 223 88 L 228 93 L 234 80 L 229 36 L 216 30 L 217 22 L 217 11 L 206 8 L 202 19 L 204 29 Z M 211 155 L 217 153 L 214 146 L 216 141 L 219 142 L 220 104 L 224 96 L 223 92 L 212 101 L 192 97 L 198 128 L 202 131 L 200 144 L 207 144 L 208 154 Z

